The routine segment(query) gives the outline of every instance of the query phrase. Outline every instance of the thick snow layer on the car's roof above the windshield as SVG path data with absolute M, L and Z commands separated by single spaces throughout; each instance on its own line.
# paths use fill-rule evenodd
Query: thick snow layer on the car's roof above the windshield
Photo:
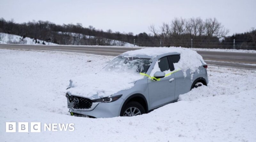
M 180 54 L 180 50 L 175 47 L 156 47 L 156 48 L 144 48 L 138 50 L 127 51 L 121 54 L 124 57 L 143 57 L 143 58 L 154 58 L 161 55 L 176 55 Z

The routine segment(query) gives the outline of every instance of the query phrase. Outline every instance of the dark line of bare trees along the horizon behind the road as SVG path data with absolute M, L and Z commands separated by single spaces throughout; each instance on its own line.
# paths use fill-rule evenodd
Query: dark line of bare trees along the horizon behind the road
M 57 25 L 49 21 L 15 23 L 0 19 L 0 32 L 65 45 L 181 46 L 193 48 L 255 49 L 256 30 L 226 36 L 229 32 L 216 18 L 174 18 L 161 26 L 148 26 L 150 34 L 113 32 L 84 27 L 81 23 Z M 235 46 L 234 40 L 235 39 Z

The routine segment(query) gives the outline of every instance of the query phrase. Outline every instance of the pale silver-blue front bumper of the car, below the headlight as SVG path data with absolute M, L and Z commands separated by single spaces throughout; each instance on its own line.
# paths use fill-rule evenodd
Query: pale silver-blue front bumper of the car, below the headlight
M 74 102 L 70 102 L 68 99 L 67 101 L 68 108 L 71 113 L 82 114 L 84 116 L 95 118 L 108 118 L 120 116 L 120 111 L 124 103 L 124 99 L 119 98 L 118 100 L 113 102 L 93 102 L 91 108 L 89 109 L 74 109 Z

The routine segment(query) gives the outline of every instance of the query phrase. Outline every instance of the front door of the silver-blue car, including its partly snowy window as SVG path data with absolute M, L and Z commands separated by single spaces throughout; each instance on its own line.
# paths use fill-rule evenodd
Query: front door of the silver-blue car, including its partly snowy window
M 154 68 L 159 68 L 165 74 L 171 72 L 167 56 L 158 60 Z M 152 71 L 156 72 L 155 69 Z M 153 76 L 155 72 L 151 72 L 150 76 Z M 148 79 L 149 109 L 158 108 L 174 101 L 175 79 L 172 78 L 175 78 L 174 74 L 161 78 L 160 81 Z M 172 79 L 171 82 L 170 79 Z

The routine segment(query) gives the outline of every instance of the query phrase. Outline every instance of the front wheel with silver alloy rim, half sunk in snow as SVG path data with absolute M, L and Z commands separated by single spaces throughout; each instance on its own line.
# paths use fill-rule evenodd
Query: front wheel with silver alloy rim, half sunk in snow
M 146 113 L 146 111 L 140 103 L 138 103 L 137 101 L 131 101 L 125 105 L 120 116 L 130 117 L 130 116 L 142 115 L 144 113 Z

